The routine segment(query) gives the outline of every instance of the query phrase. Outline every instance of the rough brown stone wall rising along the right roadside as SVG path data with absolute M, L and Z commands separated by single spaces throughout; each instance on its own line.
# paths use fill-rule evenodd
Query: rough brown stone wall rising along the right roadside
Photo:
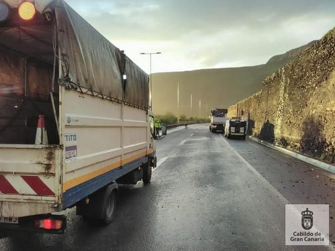
M 259 93 L 231 106 L 249 117 L 249 134 L 334 163 L 335 29 L 263 81 Z

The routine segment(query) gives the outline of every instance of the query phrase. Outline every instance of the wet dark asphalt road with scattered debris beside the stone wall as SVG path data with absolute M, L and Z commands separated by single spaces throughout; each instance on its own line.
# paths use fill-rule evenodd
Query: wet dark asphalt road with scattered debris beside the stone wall
M 150 185 L 119 186 L 110 226 L 90 226 L 68 209 L 65 235 L 0 240 L 8 251 L 335 250 L 285 247 L 285 204 L 330 204 L 335 175 L 253 141 L 227 140 L 208 125 L 157 141 Z M 330 220 L 335 244 L 335 220 Z

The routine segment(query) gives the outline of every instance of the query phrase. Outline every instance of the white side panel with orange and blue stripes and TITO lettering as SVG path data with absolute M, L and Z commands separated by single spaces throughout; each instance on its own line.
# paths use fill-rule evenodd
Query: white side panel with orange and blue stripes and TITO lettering
M 147 162 L 147 111 L 62 91 L 63 209 Z

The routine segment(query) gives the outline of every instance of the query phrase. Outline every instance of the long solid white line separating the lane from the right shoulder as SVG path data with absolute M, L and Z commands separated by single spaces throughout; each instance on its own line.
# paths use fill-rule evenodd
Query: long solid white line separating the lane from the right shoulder
M 227 147 L 229 147 L 234 154 L 251 170 L 252 173 L 254 173 L 260 180 L 262 180 L 265 184 L 267 184 L 269 190 L 276 195 L 284 204 L 291 204 L 276 188 L 274 188 L 266 178 L 264 178 L 260 173 L 257 172 L 256 169 L 254 169 L 251 164 L 249 164 L 249 162 L 247 160 L 244 159 L 244 157 L 242 157 L 229 143 L 228 141 L 225 140 L 225 138 L 223 138 L 223 136 L 220 134 L 222 140 L 227 144 Z M 292 204 L 294 206 L 294 204 Z M 300 212 L 298 211 L 297 208 L 295 208 L 295 213 L 296 215 L 300 216 Z M 317 228 L 315 228 L 315 230 L 318 230 Z M 329 247 L 328 250 L 333 250 L 332 249 L 335 248 L 335 245 L 332 244 L 331 240 L 329 240 Z

